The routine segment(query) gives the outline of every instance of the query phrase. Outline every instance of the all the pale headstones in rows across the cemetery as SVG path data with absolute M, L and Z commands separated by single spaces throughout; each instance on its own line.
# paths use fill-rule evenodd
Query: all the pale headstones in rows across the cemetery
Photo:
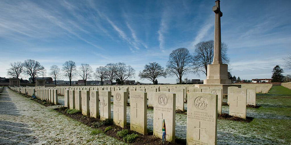
M 246 105 L 255 105 L 255 95 L 259 90 L 257 87 L 266 90 L 271 88 L 255 85 L 242 85 L 242 88 L 229 87 L 229 115 L 246 118 Z M 175 142 L 175 111 L 184 111 L 184 103 L 187 102 L 187 144 L 216 144 L 217 142 L 217 115 L 222 113 L 223 99 L 223 91 L 219 87 L 151 85 L 10 87 L 10 89 L 35 95 L 55 104 L 58 94 L 64 95 L 65 107 L 80 110 L 83 115 L 100 117 L 100 120 L 111 118 L 111 97 L 113 97 L 113 122 L 122 128 L 126 126 L 126 106 L 129 97 L 130 130 L 147 134 L 147 105 L 152 106 L 154 108 L 153 135 L 159 138 L 165 136 L 166 141 L 169 142 Z M 166 129 L 164 134 L 163 127 Z

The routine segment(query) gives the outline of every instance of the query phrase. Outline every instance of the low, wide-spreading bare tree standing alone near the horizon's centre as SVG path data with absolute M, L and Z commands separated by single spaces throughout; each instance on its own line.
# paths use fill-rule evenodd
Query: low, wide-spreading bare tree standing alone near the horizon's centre
M 155 84 L 158 77 L 166 77 L 166 75 L 164 68 L 156 62 L 146 64 L 143 71 L 139 72 L 141 79 L 148 79 L 152 81 L 152 84 Z

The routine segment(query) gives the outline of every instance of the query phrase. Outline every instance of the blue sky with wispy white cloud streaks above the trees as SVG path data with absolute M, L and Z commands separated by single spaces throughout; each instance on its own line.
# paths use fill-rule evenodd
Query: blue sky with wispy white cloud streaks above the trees
M 49 71 L 52 65 L 61 68 L 72 60 L 94 70 L 125 62 L 136 70 L 132 79 L 149 82 L 138 77 L 148 62 L 165 67 L 174 49 L 184 47 L 193 53 L 198 42 L 213 40 L 214 5 L 214 0 L 2 0 L 0 77 L 7 77 L 9 63 L 15 61 L 35 59 Z M 283 64 L 283 57 L 291 53 L 290 5 L 288 0 L 221 0 L 221 40 L 228 44 L 233 75 L 271 78 L 272 68 Z M 158 81 L 175 83 L 175 79 Z

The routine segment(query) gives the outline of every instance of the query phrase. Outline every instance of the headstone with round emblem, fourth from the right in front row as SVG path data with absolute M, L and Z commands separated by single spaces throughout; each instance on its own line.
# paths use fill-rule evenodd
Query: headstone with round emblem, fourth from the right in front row
M 115 125 L 124 128 L 126 126 L 126 105 L 127 92 L 113 92 L 113 122 Z

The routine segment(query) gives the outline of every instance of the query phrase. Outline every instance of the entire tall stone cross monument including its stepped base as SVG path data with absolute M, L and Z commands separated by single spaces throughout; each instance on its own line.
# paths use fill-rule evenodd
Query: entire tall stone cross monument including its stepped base
M 221 28 L 220 28 L 220 17 L 222 12 L 220 10 L 220 1 L 215 1 L 215 6 L 212 7 L 212 11 L 215 13 L 215 25 L 214 25 L 214 57 L 212 64 L 207 66 L 207 76 L 203 84 L 196 85 L 198 88 L 201 87 L 222 87 L 223 94 L 227 94 L 227 87 L 241 85 L 232 85 L 231 80 L 228 79 L 228 65 L 222 64 L 221 60 Z

